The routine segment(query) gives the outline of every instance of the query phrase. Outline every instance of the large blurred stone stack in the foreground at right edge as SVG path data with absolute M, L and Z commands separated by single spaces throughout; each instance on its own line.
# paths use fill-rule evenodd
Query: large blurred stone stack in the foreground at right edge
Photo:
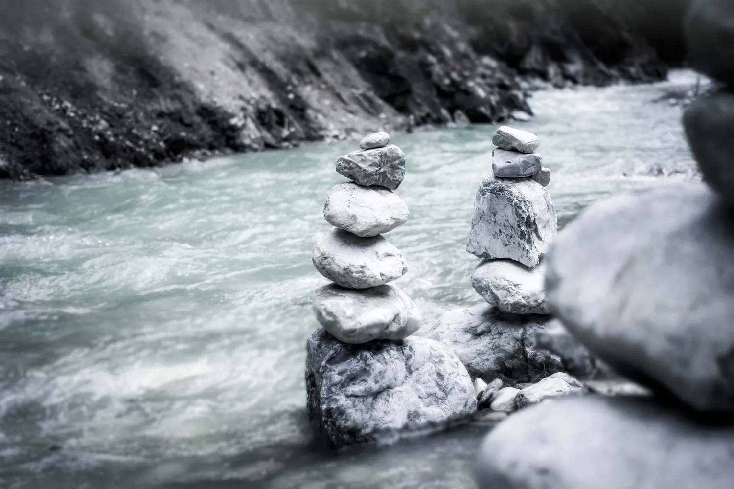
M 722 84 L 683 115 L 705 183 L 597 202 L 546 259 L 553 315 L 649 390 L 523 409 L 484 440 L 479 488 L 734 487 L 734 2 L 694 0 L 685 33 Z

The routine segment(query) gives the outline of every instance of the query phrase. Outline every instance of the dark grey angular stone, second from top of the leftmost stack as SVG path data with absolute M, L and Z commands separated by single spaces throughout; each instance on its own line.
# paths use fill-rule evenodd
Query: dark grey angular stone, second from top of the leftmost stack
M 395 144 L 341 156 L 336 171 L 360 185 L 395 190 L 405 177 L 405 153 Z

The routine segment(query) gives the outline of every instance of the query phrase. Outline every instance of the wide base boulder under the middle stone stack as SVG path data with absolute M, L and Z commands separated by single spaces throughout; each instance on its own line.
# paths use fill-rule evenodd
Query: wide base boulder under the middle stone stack
M 535 331 L 549 320 L 474 306 L 447 312 L 421 334 L 451 346 L 472 377 L 531 381 L 563 368 L 559 356 L 535 346 Z

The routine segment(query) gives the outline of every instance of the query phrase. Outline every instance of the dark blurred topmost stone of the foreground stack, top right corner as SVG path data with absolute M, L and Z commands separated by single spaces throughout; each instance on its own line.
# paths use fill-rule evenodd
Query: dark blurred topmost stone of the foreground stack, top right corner
M 684 32 L 691 67 L 734 85 L 734 2 L 694 0 Z

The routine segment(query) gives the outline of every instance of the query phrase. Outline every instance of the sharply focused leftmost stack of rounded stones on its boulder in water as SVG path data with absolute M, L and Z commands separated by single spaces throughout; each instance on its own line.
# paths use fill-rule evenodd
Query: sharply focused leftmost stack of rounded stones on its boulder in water
M 393 193 L 405 155 L 389 142 L 374 133 L 338 159 L 336 171 L 352 181 L 328 194 L 324 217 L 333 228 L 313 249 L 313 265 L 333 284 L 313 299 L 321 328 L 307 342 L 308 411 L 336 446 L 476 410 L 466 368 L 446 345 L 411 337 L 421 313 L 390 284 L 407 262 L 382 233 L 409 213 Z

